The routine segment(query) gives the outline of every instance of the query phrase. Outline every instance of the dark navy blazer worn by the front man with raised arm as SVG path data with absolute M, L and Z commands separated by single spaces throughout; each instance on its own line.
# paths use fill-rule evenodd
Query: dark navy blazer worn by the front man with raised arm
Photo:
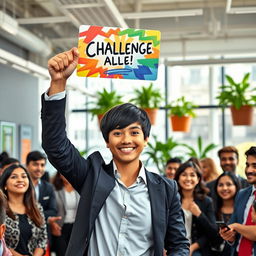
M 65 102 L 65 99 L 46 102 L 42 96 L 42 146 L 49 161 L 80 194 L 66 256 L 82 256 L 87 255 L 95 220 L 115 186 L 115 179 L 112 162 L 106 165 L 99 152 L 84 159 L 67 139 Z M 152 211 L 154 255 L 162 256 L 164 248 L 168 255 L 189 255 L 177 184 L 148 171 L 146 177 Z

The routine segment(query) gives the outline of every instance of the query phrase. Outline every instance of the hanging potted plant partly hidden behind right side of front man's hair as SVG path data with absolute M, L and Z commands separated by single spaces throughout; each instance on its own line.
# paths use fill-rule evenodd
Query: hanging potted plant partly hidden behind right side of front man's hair
M 157 111 L 163 99 L 160 90 L 153 89 L 153 83 L 150 83 L 148 87 L 142 86 L 140 89 L 135 89 L 134 94 L 135 97 L 130 101 L 144 109 L 148 114 L 150 123 L 155 124 Z

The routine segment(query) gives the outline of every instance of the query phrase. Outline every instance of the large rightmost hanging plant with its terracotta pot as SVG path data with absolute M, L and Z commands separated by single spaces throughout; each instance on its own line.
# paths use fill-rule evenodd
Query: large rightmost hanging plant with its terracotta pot
M 221 92 L 216 97 L 222 106 L 230 105 L 234 125 L 252 125 L 253 105 L 256 95 L 252 95 L 256 88 L 250 88 L 248 82 L 250 73 L 246 73 L 240 83 L 234 82 L 226 75 L 227 85 L 220 86 Z

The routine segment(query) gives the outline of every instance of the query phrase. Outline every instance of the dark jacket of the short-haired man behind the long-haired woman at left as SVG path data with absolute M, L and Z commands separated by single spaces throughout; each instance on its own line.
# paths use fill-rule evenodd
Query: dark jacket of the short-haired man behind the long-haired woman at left
M 41 180 L 39 185 L 38 202 L 43 206 L 45 219 L 57 215 L 57 204 L 53 185 L 45 180 Z

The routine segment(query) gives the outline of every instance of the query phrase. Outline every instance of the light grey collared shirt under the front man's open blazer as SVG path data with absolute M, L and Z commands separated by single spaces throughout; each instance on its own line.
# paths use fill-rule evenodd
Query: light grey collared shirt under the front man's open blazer
M 114 164 L 115 187 L 96 221 L 88 256 L 152 256 L 153 228 L 144 166 L 129 187 Z

